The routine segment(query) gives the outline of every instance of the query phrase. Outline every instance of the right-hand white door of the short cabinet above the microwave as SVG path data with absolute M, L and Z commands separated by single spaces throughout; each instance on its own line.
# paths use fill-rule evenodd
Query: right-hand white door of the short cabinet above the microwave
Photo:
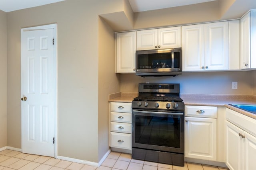
M 181 27 L 158 29 L 158 49 L 181 47 Z

